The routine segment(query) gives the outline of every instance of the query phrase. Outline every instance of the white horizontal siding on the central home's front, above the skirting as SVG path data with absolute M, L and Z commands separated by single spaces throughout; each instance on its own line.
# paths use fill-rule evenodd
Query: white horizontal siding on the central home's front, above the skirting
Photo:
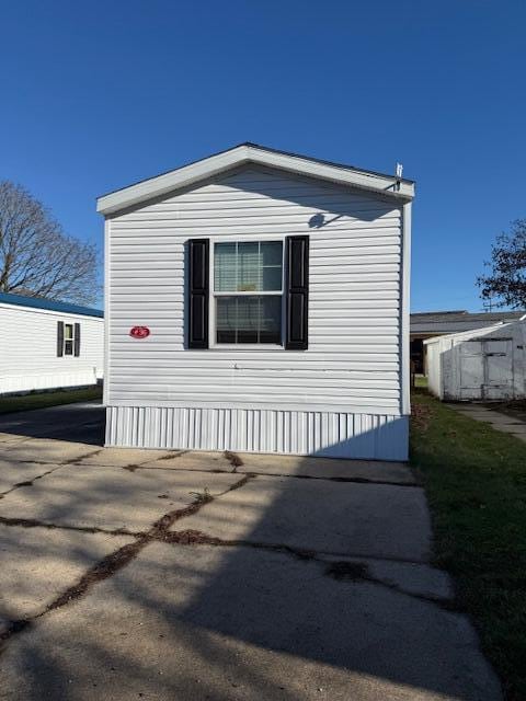
M 306 233 L 308 350 L 185 349 L 188 238 L 273 240 Z M 106 235 L 110 406 L 329 412 L 373 422 L 400 417 L 400 205 L 250 166 L 115 216 Z M 148 325 L 151 335 L 130 338 L 136 324 Z M 125 421 L 123 412 L 117 416 L 108 414 L 108 424 Z M 108 441 L 116 430 L 108 425 Z M 393 457 L 402 457 L 400 450 Z

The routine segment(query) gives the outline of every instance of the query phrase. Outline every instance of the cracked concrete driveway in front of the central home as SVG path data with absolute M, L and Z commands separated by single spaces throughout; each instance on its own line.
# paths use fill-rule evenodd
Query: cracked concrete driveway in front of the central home
M 405 466 L 101 429 L 0 421 L 0 699 L 501 699 Z

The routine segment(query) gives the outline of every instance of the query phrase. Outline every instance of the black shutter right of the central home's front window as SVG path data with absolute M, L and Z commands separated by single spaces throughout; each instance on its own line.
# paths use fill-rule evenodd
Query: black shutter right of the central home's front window
M 309 347 L 309 237 L 287 237 L 287 324 L 285 348 Z

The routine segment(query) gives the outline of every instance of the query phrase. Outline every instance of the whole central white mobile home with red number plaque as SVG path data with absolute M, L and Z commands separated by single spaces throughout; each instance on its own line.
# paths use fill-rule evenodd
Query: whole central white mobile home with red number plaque
M 106 445 L 405 459 L 413 194 L 244 143 L 101 197 Z

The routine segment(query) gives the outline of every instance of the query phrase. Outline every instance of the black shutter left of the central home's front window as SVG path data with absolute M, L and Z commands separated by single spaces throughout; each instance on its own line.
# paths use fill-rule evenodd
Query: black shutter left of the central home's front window
M 188 241 L 188 348 L 208 348 L 208 239 Z

